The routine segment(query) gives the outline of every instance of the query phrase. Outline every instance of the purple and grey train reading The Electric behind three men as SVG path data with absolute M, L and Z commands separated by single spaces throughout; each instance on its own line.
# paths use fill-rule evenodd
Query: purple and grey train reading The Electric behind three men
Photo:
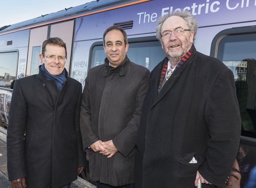
M 256 166 L 256 0 L 94 0 L 13 25 L 0 27 L 0 124 L 8 127 L 12 85 L 38 73 L 41 45 L 60 37 L 67 45 L 65 68 L 83 86 L 88 70 L 104 63 L 103 32 L 125 29 L 128 57 L 150 71 L 165 57 L 156 39 L 159 16 L 186 10 L 198 21 L 195 48 L 221 60 L 234 73 L 246 148 L 241 187 Z M 230 109 L 232 110 L 232 109 Z M 228 117 L 227 117 L 228 121 Z

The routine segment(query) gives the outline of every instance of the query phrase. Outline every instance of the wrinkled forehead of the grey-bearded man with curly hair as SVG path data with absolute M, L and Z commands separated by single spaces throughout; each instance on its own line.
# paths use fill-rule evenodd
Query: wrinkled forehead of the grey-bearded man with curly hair
M 167 18 L 161 28 L 161 32 L 165 30 L 175 30 L 177 28 L 189 29 L 187 22 L 180 16 L 171 16 Z

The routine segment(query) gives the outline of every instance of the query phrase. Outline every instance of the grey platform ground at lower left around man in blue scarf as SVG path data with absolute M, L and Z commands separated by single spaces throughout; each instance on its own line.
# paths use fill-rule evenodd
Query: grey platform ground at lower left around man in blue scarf
M 11 188 L 7 173 L 6 133 L 6 129 L 0 127 L 0 188 Z M 96 186 L 78 177 L 71 183 L 71 188 L 96 188 Z

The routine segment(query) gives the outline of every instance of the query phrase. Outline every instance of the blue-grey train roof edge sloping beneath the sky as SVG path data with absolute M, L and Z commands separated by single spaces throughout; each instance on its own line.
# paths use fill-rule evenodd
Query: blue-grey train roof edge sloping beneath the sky
M 38 25 L 49 24 L 49 22 L 54 23 L 54 21 L 59 21 L 61 19 L 72 19 L 80 16 L 84 16 L 84 14 L 90 14 L 95 11 L 104 10 L 106 11 L 111 7 L 118 7 L 123 4 L 127 4 L 129 2 L 136 2 L 138 0 L 93 0 L 91 2 L 76 6 L 76 7 L 67 7 L 63 10 L 49 13 L 46 15 L 41 15 L 37 18 L 32 18 L 30 20 L 25 20 L 23 22 L 19 22 L 13 25 L 6 25 L 0 27 L 0 33 L 5 33 L 17 29 L 22 29 L 26 27 L 33 27 Z

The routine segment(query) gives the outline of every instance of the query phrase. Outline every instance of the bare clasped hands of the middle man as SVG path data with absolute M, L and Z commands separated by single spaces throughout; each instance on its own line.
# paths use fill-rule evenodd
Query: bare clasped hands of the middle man
M 90 148 L 94 152 L 99 152 L 100 154 L 108 155 L 108 158 L 112 157 L 116 152 L 118 152 L 112 140 L 106 142 L 98 140 L 94 142 L 92 145 L 90 145 Z

